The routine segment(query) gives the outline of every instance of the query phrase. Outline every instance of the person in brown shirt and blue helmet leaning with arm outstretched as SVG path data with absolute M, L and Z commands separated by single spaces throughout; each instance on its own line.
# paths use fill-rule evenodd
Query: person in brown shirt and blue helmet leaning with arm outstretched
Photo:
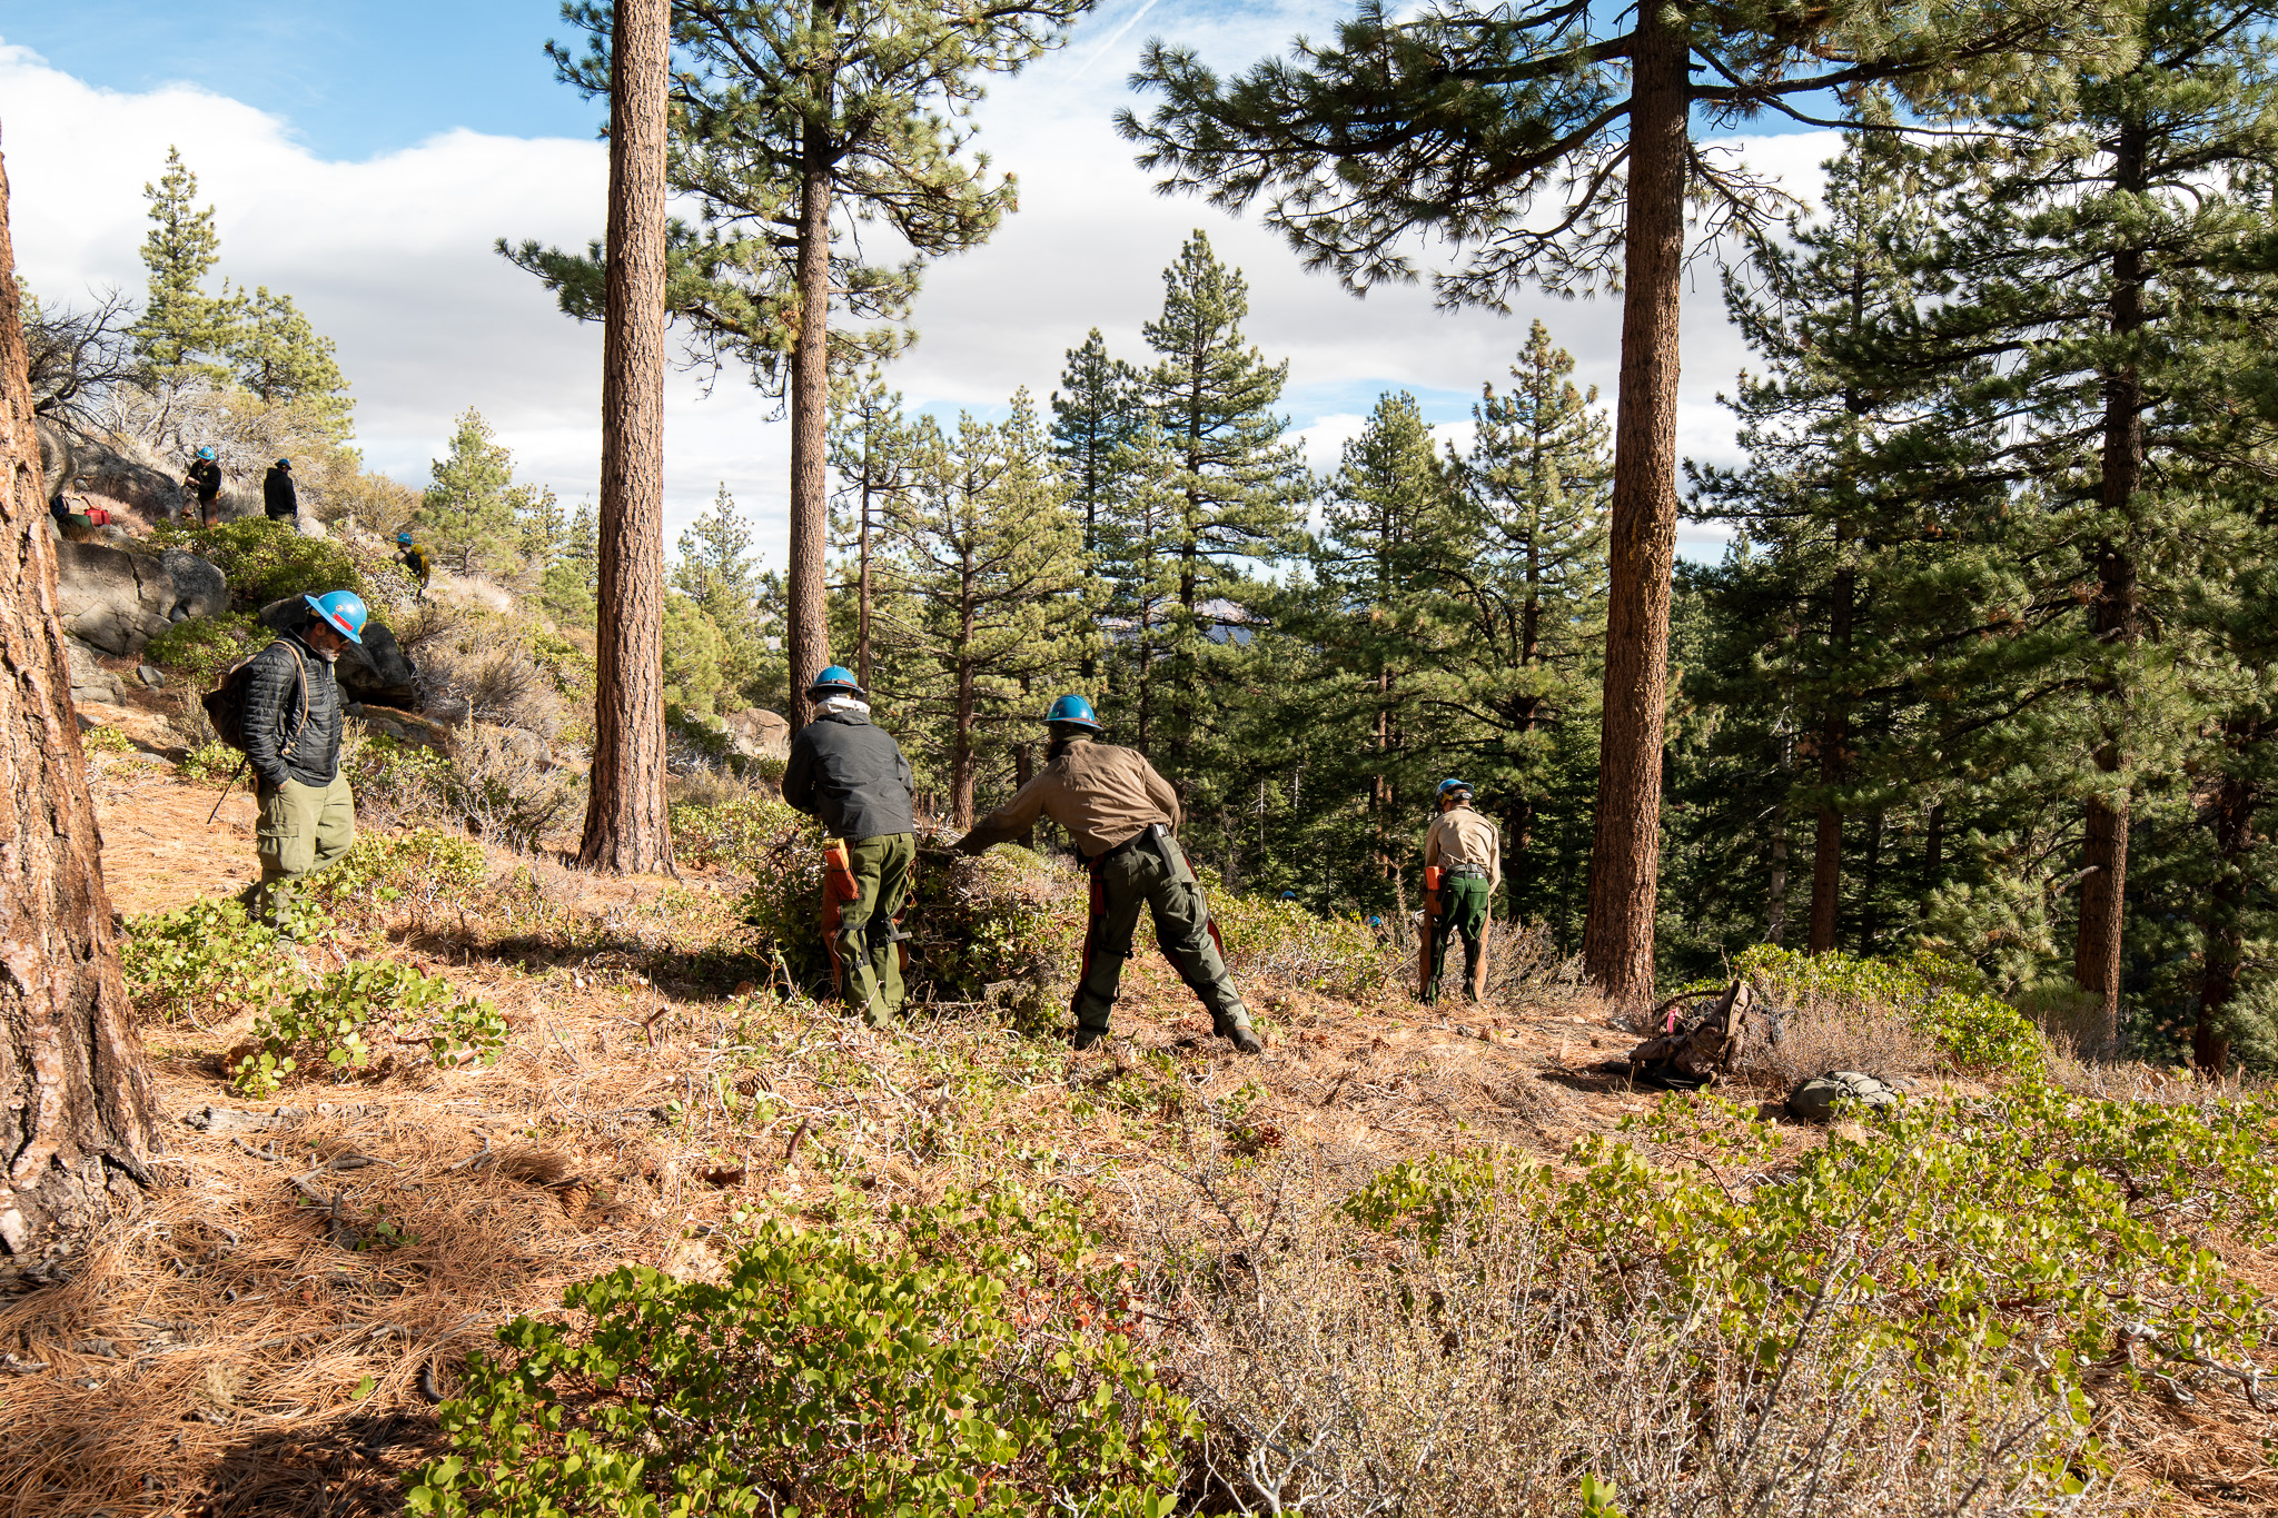
M 1262 1054 L 1251 1013 L 1226 974 L 1210 904 L 1178 847 L 1178 792 L 1146 756 L 1100 742 L 1100 719 L 1082 696 L 1062 696 L 1046 712 L 1052 742 L 1046 765 L 1011 801 L 957 840 L 959 853 L 1021 838 L 1036 817 L 1068 831 L 1091 865 L 1091 922 L 1084 929 L 1084 974 L 1075 985 L 1075 1047 L 1107 1038 L 1123 960 L 1132 956 L 1139 908 L 1155 917 L 1155 942 L 1203 1006 L 1212 1033 L 1244 1054 Z

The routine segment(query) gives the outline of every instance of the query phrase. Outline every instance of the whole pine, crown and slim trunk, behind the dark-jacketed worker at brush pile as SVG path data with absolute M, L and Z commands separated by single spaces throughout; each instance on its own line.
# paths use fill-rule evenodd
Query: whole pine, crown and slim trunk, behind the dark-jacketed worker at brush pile
M 923 259 L 986 241 L 1014 209 L 1011 178 L 991 182 L 989 159 L 966 150 L 973 107 L 989 75 L 1057 48 L 1084 9 L 1089 0 L 674 5 L 670 182 L 699 203 L 704 228 L 672 237 L 665 298 L 699 346 L 788 387 L 793 685 L 829 662 L 831 305 L 854 319 L 907 314 Z M 590 50 L 572 57 L 549 46 L 563 80 L 608 93 L 611 5 L 583 0 L 565 16 L 588 32 Z M 884 223 L 911 259 L 861 262 L 861 221 Z M 558 289 L 565 312 L 592 312 L 599 248 L 572 255 L 501 241 L 499 250 Z M 841 353 L 852 369 L 898 341 L 870 332 Z M 793 728 L 809 717 L 800 690 Z

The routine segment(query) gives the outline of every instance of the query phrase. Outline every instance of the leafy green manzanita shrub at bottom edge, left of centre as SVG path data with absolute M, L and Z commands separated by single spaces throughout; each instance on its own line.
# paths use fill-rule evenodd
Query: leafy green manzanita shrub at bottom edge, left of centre
M 1164 1518 L 1198 1432 L 1062 1208 L 763 1222 L 720 1284 L 629 1265 L 517 1318 L 440 1411 L 415 1513 Z

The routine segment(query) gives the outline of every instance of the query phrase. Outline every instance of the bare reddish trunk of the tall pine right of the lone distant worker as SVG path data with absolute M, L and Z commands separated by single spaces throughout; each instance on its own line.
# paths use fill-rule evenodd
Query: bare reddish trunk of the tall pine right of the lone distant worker
M 1622 382 L 1613 437 L 1606 712 L 1583 970 L 1615 1004 L 1654 995 L 1661 737 L 1677 558 L 1677 298 L 1686 250 L 1690 48 L 1656 5 L 1631 52 Z

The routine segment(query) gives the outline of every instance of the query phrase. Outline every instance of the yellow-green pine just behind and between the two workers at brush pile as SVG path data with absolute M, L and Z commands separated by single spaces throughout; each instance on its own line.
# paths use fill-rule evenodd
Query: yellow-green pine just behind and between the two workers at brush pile
M 1098 642 L 1082 526 L 1027 391 L 1002 423 L 925 423 L 913 489 L 886 514 L 879 630 L 902 685 L 893 710 L 957 826 L 993 758 L 1032 746 L 1039 692 Z

